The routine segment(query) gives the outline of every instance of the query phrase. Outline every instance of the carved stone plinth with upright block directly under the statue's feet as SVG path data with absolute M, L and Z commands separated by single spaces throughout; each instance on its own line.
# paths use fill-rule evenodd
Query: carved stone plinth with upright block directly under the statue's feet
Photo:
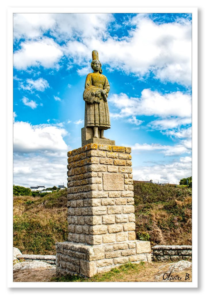
M 98 137 L 93 137 L 93 128 L 83 127 L 81 128 L 81 142 L 82 146 L 88 145 L 90 143 L 96 143 L 101 145 L 115 145 L 115 140 L 110 140 L 108 138 L 100 138 L 100 130 L 98 130 Z

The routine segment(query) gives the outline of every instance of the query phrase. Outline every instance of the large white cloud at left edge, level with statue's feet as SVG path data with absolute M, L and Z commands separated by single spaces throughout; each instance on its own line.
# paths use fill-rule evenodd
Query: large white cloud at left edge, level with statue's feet
M 50 124 L 32 125 L 27 122 L 14 122 L 14 152 L 30 153 L 37 151 L 67 150 L 63 136 L 67 131 Z

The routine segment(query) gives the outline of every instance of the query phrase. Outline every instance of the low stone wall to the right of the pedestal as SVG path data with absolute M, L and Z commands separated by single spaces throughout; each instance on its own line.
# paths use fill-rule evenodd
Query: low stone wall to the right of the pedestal
M 191 245 L 156 245 L 152 247 L 153 260 L 191 260 Z

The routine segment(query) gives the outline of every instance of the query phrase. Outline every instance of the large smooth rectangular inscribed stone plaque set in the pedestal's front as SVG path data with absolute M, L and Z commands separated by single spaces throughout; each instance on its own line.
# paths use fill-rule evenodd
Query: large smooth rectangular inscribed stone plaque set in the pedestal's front
M 123 191 L 123 175 L 116 173 L 103 173 L 103 189 L 104 191 Z

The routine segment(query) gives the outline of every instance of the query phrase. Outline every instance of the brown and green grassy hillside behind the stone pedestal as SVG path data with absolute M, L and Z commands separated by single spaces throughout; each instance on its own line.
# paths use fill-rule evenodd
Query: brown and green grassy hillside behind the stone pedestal
M 151 245 L 191 244 L 191 189 L 134 181 L 136 238 Z M 67 240 L 67 189 L 43 197 L 14 195 L 14 247 L 55 255 Z

